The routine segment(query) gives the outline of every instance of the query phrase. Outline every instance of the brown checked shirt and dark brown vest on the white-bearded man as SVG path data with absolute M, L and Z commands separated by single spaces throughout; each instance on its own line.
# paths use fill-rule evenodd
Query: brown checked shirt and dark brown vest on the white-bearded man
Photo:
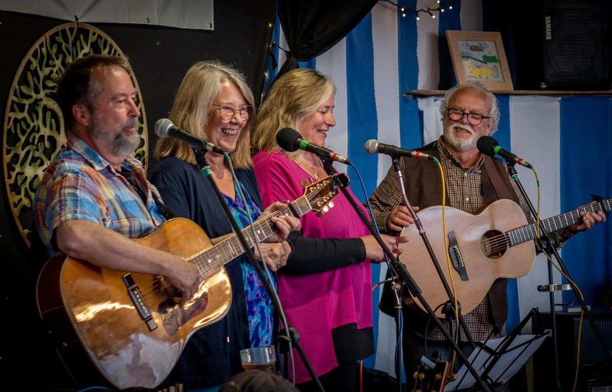
M 498 199 L 510 199 L 521 206 L 531 223 L 532 218 L 528 206 L 523 198 L 518 197 L 518 190 L 510 179 L 504 162 L 481 155 L 474 166 L 465 169 L 444 146 L 443 141 L 444 139 L 441 137 L 439 141 L 428 144 L 420 151 L 431 154 L 440 161 L 447 187 L 447 205 L 467 213 L 473 213 L 482 204 Z M 405 158 L 400 161 L 400 166 L 402 166 L 405 177 L 406 196 L 408 196 L 412 205 L 425 209 L 432 205 L 442 204 L 442 182 L 436 165 L 433 165 L 431 161 Z M 370 202 L 374 210 L 376 224 L 381 231 L 386 231 L 386 221 L 390 210 L 395 205 L 401 204 L 401 196 L 393 168 L 389 169 L 387 176 L 370 196 Z M 553 233 L 558 245 L 562 245 L 569 236 L 569 232 L 564 230 Z M 497 279 L 482 302 L 473 311 L 463 315 L 465 323 L 476 341 L 486 339 L 491 332 L 493 333 L 491 338 L 495 338 L 504 331 L 508 312 L 506 286 L 507 279 Z M 383 300 L 385 300 L 384 296 Z M 437 304 L 430 305 L 435 306 Z M 384 304 L 382 306 L 384 307 Z M 405 320 L 405 328 L 411 328 L 418 335 L 424 336 L 427 314 L 420 310 L 410 313 L 414 313 L 414 317 Z M 446 320 L 442 320 L 442 324 L 446 328 L 449 327 Z M 441 331 L 437 328 L 431 328 L 433 323 L 430 322 L 429 327 L 427 339 L 444 340 Z M 461 340 L 466 340 L 463 331 L 461 331 Z

